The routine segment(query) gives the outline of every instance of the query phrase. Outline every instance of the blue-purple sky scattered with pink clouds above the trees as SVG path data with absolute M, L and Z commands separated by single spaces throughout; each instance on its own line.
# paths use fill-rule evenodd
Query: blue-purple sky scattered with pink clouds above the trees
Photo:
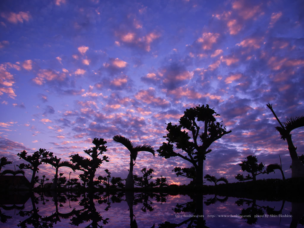
M 280 155 L 291 177 L 287 142 L 266 104 L 282 122 L 304 114 L 303 9 L 301 0 L 2 0 L 0 157 L 13 161 L 5 168 L 24 162 L 23 150 L 85 157 L 97 137 L 110 161 L 96 175 L 126 178 L 129 152 L 113 136 L 156 151 L 166 123 L 208 104 L 232 132 L 211 145 L 204 175 L 236 182 L 248 155 L 266 165 Z M 303 128 L 292 131 L 299 155 L 303 138 Z M 139 153 L 134 174 L 146 167 L 169 184 L 190 182 L 172 172 L 189 162 L 157 154 Z M 43 164 L 38 175 L 53 173 Z

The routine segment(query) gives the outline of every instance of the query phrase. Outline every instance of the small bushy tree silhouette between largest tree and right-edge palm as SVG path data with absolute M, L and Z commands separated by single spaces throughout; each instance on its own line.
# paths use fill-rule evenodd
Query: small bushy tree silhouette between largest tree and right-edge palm
M 246 157 L 247 160 L 242 161 L 242 163 L 239 164 L 239 166 L 242 168 L 242 171 L 246 171 L 250 173 L 245 178 L 243 177 L 243 174 L 237 174 L 235 178 L 239 181 L 247 181 L 247 180 L 253 180 L 256 181 L 256 176 L 259 174 L 263 174 L 265 172 L 262 172 L 264 169 L 264 164 L 261 162 L 260 164 L 257 164 L 257 157 L 249 155 Z

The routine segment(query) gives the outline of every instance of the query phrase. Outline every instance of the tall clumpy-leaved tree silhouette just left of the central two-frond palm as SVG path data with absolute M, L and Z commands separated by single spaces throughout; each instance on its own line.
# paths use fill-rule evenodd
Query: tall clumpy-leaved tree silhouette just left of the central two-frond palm
M 88 154 L 92 159 L 84 158 L 79 156 L 79 154 L 71 155 L 71 161 L 73 164 L 76 164 L 77 169 L 84 172 L 83 175 L 79 175 L 80 178 L 84 181 L 84 186 L 87 184 L 89 188 L 93 188 L 94 186 L 94 177 L 96 169 L 102 164 L 102 162 L 106 161 L 109 162 L 107 156 L 103 156 L 100 159 L 98 156 L 102 155 L 105 151 L 107 151 L 107 147 L 105 144 L 107 143 L 104 139 L 94 138 L 92 143 L 95 147 L 92 147 L 88 150 L 84 150 L 86 154 Z M 98 152 L 99 151 L 99 152 Z

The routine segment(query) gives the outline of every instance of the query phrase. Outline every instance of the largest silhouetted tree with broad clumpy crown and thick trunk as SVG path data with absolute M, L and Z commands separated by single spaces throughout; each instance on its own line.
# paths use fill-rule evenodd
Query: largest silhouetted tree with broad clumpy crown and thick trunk
M 195 168 L 195 185 L 202 186 L 204 160 L 206 154 L 211 152 L 208 148 L 231 130 L 226 131 L 226 126 L 223 127 L 221 122 L 216 122 L 215 117 L 219 114 L 209 108 L 209 105 L 186 109 L 184 113 L 184 116 L 179 119 L 179 125 L 172 125 L 171 122 L 167 124 L 169 133 L 164 138 L 167 138 L 168 142 L 163 143 L 157 152 L 165 158 L 178 156 L 189 161 Z M 200 132 L 201 127 L 202 132 Z

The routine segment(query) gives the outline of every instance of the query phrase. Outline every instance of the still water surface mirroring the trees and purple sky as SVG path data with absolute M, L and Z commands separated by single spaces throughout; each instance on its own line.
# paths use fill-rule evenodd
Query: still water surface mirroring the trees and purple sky
M 254 227 L 304 224 L 304 203 L 151 192 L 2 196 L 1 227 Z M 4 200 L 5 199 L 5 200 Z

